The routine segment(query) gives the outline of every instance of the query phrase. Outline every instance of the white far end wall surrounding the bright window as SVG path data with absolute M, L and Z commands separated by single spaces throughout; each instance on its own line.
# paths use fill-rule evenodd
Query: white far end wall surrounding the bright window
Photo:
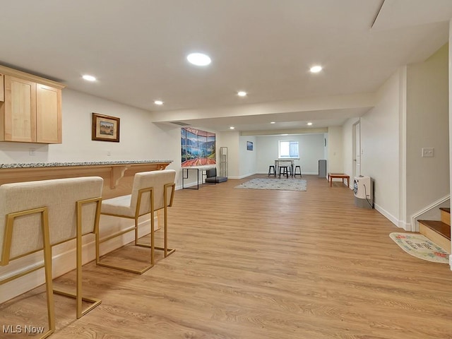
M 256 172 L 268 173 L 268 166 L 278 159 L 278 141 L 298 141 L 300 159 L 295 165 L 302 167 L 302 174 L 319 174 L 319 160 L 323 157 L 322 134 L 298 134 L 291 136 L 257 136 L 256 137 Z

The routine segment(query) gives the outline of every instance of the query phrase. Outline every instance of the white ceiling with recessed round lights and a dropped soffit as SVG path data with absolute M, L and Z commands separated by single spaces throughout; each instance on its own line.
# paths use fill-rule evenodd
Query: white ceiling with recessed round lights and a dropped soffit
M 2 0 L 0 13 L 0 64 L 152 111 L 153 121 L 261 131 L 367 112 L 362 95 L 448 41 L 452 1 Z M 191 66 L 189 52 L 212 64 Z M 313 64 L 323 71 L 309 73 Z M 323 107 L 350 95 L 355 103 Z

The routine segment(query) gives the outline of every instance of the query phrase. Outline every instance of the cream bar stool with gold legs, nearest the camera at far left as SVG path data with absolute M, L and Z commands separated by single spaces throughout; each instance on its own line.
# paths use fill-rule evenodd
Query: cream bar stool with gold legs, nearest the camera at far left
M 11 260 L 43 250 L 44 263 L 0 281 L 0 285 L 3 285 L 44 268 L 49 328 L 40 338 L 47 338 L 55 329 L 51 246 L 77 236 L 80 240 L 77 247 L 81 249 L 81 232 L 77 231 L 85 230 L 82 225 L 93 219 L 88 216 L 88 212 L 93 212 L 94 220 L 99 220 L 102 178 L 88 179 L 87 186 L 83 188 L 79 179 L 52 179 L 0 186 L 0 265 L 7 266 Z M 100 184 L 100 191 L 93 192 L 95 184 Z M 97 200 L 91 196 L 97 196 Z M 90 232 L 97 228 L 95 222 L 90 226 Z M 81 309 L 82 299 L 81 251 L 77 253 L 78 288 L 74 297 L 80 300 L 77 304 L 79 313 L 78 305 Z

